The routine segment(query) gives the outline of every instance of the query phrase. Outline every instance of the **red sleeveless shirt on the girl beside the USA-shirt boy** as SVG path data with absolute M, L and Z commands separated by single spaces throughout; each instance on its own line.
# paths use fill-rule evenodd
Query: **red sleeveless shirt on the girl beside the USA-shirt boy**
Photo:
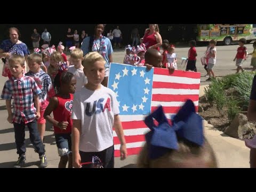
M 58 122 L 68 122 L 68 126 L 66 130 L 61 130 L 59 127 L 53 126 L 54 133 L 71 133 L 72 127 L 72 106 L 73 106 L 73 94 L 69 94 L 69 99 L 62 98 L 59 95 L 55 95 L 58 98 L 59 105 L 53 110 L 53 117 Z

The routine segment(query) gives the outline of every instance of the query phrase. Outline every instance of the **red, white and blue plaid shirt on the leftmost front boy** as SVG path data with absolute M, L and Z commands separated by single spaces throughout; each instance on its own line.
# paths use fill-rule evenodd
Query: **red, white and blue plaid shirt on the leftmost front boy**
M 1 98 L 11 100 L 13 98 L 13 119 L 15 123 L 22 121 L 27 124 L 36 118 L 34 107 L 34 95 L 41 94 L 33 78 L 22 76 L 20 79 L 12 77 L 4 84 Z

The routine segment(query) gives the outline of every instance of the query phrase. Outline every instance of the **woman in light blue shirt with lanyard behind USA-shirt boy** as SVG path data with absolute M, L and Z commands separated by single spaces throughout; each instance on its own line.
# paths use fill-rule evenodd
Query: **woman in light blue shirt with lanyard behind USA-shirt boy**
M 81 49 L 83 50 L 84 55 L 86 55 L 89 52 L 97 51 L 106 60 L 105 78 L 101 84 L 107 87 L 108 76 L 109 76 L 109 66 L 110 66 L 110 62 L 113 62 L 113 58 L 112 58 L 113 48 L 109 38 L 102 36 L 104 29 L 105 29 L 105 25 L 97 24 L 95 26 L 94 36 L 86 37 L 83 41 Z

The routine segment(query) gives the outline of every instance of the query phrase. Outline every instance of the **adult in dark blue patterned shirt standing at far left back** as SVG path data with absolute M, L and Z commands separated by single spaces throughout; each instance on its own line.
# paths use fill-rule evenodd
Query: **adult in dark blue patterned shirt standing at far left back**
M 11 27 L 9 29 L 9 36 L 10 39 L 6 39 L 0 45 L 0 58 L 4 59 L 4 68 L 7 73 L 7 76 L 11 78 L 11 71 L 8 67 L 8 58 L 10 58 L 11 54 L 19 54 L 25 57 L 25 73 L 27 73 L 27 62 L 28 62 L 28 55 L 29 50 L 25 43 L 19 40 L 20 38 L 20 31 L 15 28 Z

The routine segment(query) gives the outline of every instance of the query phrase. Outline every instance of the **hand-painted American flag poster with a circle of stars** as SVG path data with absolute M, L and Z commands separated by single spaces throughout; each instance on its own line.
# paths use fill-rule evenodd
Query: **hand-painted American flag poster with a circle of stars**
M 198 108 L 200 73 L 168 69 L 134 67 L 111 63 L 108 87 L 116 94 L 128 155 L 139 154 L 149 131 L 144 118 L 159 105 L 171 119 L 187 99 Z M 115 157 L 120 156 L 120 142 L 114 134 Z

